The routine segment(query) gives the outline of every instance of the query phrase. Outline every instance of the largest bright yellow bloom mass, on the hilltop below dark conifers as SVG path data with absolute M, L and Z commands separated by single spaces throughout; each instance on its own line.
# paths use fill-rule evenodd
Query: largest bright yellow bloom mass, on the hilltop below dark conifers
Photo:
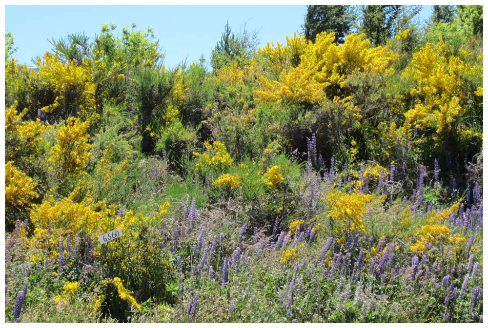
M 336 94 L 346 84 L 346 79 L 354 72 L 389 73 L 389 66 L 397 55 L 386 47 L 369 48 L 365 35 L 346 36 L 344 44 L 336 45 L 335 34 L 323 32 L 317 35 L 315 43 L 304 45 L 303 54 L 296 67 L 293 65 L 281 71 L 278 80 L 259 77 L 260 90 L 254 95 L 262 102 L 317 103 L 326 99 L 326 92 Z M 296 39 L 296 36 L 295 36 Z M 295 42 L 297 54 L 302 51 L 303 42 Z M 271 49 L 269 45 L 260 53 L 277 63 L 281 49 Z M 275 57 L 278 57 L 275 59 Z M 274 64 L 275 66 L 278 64 Z M 281 64 L 280 64 L 281 65 Z

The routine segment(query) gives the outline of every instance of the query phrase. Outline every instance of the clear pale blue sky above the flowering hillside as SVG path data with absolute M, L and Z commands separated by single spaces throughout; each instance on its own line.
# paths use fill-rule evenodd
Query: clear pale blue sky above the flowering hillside
M 301 32 L 305 12 L 305 5 L 6 5 L 5 31 L 12 32 L 18 47 L 14 57 L 32 65 L 31 58 L 51 49 L 48 39 L 81 32 L 94 38 L 103 23 L 117 24 L 120 33 L 136 21 L 138 28 L 154 29 L 165 52 L 163 63 L 174 67 L 186 57 L 191 62 L 203 55 L 209 61 L 227 20 L 234 32 L 244 22 L 246 29 L 259 30 L 264 46 L 285 43 L 287 35 Z M 421 15 L 427 18 L 430 13 L 430 6 L 425 6 Z

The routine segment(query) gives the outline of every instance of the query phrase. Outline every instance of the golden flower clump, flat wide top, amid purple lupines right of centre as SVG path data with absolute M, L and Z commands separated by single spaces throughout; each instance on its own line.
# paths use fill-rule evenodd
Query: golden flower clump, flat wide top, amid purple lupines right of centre
M 366 214 L 366 205 L 374 198 L 372 194 L 329 191 L 322 200 L 329 206 L 327 216 L 333 222 L 346 226 L 350 231 L 366 232 L 362 217 Z

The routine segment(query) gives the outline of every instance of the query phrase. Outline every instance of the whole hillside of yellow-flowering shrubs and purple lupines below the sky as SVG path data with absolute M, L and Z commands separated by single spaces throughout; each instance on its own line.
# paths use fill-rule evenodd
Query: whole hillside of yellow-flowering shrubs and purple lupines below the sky
M 5 321 L 483 321 L 470 13 L 422 44 L 229 30 L 213 72 L 108 25 L 34 72 L 7 35 Z

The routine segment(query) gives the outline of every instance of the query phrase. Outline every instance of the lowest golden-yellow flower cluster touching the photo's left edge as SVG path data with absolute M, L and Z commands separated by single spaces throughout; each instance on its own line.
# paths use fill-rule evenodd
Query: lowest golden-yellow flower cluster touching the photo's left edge
M 19 171 L 10 161 L 5 164 L 5 203 L 14 207 L 30 206 L 38 194 L 34 191 L 37 182 Z

